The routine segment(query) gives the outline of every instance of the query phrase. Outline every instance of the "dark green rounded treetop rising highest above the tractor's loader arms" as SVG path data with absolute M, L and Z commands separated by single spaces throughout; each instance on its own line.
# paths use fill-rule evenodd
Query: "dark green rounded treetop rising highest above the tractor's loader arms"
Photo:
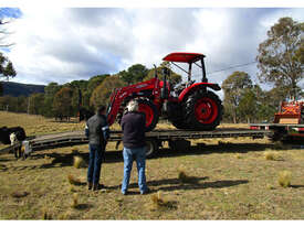
M 147 76 L 147 74 L 148 74 L 148 68 L 146 68 L 146 66 L 141 64 L 133 65 L 128 67 L 127 71 L 123 71 L 118 73 L 119 78 L 125 83 L 127 83 L 128 85 L 143 82 L 143 79 Z

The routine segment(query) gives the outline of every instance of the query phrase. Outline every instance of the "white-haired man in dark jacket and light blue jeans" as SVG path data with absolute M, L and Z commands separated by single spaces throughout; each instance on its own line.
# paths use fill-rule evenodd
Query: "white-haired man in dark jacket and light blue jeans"
M 146 184 L 146 142 L 145 125 L 146 117 L 138 112 L 138 102 L 132 100 L 127 105 L 128 112 L 122 119 L 123 142 L 124 142 L 124 180 L 122 193 L 127 194 L 133 161 L 136 160 L 138 173 L 138 186 L 140 194 L 146 194 L 149 188 Z

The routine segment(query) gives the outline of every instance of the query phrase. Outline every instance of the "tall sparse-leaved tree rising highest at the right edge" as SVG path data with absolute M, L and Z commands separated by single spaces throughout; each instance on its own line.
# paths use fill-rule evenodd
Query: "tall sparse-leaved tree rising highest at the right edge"
M 274 83 L 294 98 L 301 91 L 297 83 L 304 78 L 303 31 L 304 23 L 281 18 L 268 31 L 268 39 L 259 45 L 256 56 L 260 82 Z

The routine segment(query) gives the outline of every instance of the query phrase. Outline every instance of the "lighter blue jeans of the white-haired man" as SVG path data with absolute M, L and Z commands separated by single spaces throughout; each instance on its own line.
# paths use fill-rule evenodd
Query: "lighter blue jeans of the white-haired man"
M 147 191 L 146 183 L 146 147 L 128 149 L 124 148 L 124 180 L 122 185 L 122 193 L 126 193 L 128 190 L 129 177 L 132 172 L 133 161 L 136 160 L 137 173 L 138 173 L 138 186 L 140 192 Z

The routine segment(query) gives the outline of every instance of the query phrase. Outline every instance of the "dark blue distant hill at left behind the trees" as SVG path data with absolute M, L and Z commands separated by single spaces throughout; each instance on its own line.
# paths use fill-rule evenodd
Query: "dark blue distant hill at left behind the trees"
M 14 82 L 1 82 L 3 96 L 30 96 L 33 93 L 44 93 L 44 85 L 28 85 Z

